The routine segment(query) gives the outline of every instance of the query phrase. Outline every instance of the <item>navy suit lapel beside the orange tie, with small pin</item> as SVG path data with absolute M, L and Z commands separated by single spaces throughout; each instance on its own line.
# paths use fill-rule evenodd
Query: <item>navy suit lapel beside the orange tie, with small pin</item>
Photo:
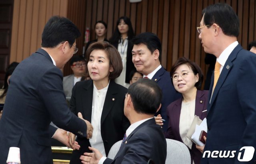
M 228 59 L 227 59 L 225 65 L 224 65 L 224 67 L 223 67 L 223 69 L 222 69 L 222 71 L 221 71 L 221 73 L 220 73 L 220 77 L 219 77 L 219 79 L 218 79 L 218 82 L 217 82 L 217 84 L 216 84 L 216 87 L 215 87 L 215 89 L 214 89 L 214 92 L 213 92 L 213 94 L 212 94 L 212 97 L 211 97 L 211 99 L 210 99 L 210 105 L 209 105 L 209 108 L 208 108 L 208 113 L 209 113 L 209 111 L 210 111 L 210 109 L 211 109 L 211 107 L 212 107 L 212 104 L 214 103 L 214 101 L 215 101 L 215 99 L 216 99 L 216 97 L 217 97 L 217 95 L 218 95 L 218 92 L 220 91 L 221 86 L 223 85 L 223 83 L 224 83 L 226 77 L 228 76 L 228 73 L 229 73 L 230 70 L 232 69 L 232 66 L 233 66 L 232 61 L 233 61 L 234 59 L 236 59 L 236 55 L 237 55 L 237 53 L 238 53 L 241 49 L 242 49 L 241 45 L 238 44 L 238 45 L 235 47 L 235 49 L 230 53 L 230 55 L 229 55 L 229 57 L 228 57 Z M 213 83 L 213 81 L 212 81 L 212 83 Z M 212 83 L 211 83 L 211 90 L 212 90 L 212 85 L 213 85 Z

